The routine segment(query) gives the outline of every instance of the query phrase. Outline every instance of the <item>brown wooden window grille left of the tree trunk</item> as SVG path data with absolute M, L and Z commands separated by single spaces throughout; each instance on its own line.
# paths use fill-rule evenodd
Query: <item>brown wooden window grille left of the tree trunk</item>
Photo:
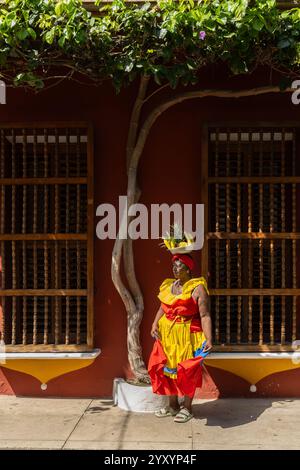
M 93 156 L 84 123 L 0 127 L 7 350 L 93 346 Z

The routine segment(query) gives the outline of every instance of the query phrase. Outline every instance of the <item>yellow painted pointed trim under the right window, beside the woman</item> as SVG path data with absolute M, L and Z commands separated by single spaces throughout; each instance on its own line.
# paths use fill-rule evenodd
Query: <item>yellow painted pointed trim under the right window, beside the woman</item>
M 209 367 L 223 369 L 255 385 L 268 375 L 299 368 L 291 359 L 205 359 Z

